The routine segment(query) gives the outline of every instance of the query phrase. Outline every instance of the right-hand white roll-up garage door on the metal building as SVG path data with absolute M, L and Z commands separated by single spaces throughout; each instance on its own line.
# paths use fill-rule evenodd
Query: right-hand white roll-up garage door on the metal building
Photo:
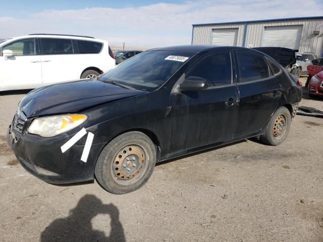
M 303 25 L 264 27 L 261 46 L 299 49 Z

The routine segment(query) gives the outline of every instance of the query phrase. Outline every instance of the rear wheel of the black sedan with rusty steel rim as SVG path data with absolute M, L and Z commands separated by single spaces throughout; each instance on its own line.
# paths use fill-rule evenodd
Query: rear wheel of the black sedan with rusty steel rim
M 291 128 L 291 113 L 286 107 L 280 107 L 268 122 L 265 133 L 260 140 L 267 145 L 280 145 L 287 137 Z

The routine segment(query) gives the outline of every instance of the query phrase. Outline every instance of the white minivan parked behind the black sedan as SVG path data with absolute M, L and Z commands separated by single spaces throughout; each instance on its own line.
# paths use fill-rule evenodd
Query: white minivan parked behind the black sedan
M 105 40 L 30 34 L 0 41 L 0 91 L 93 78 L 116 65 Z

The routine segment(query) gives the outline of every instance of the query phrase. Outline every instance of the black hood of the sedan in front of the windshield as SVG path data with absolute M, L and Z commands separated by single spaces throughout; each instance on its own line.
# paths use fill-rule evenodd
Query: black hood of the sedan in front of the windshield
M 144 92 L 111 83 L 84 79 L 37 88 L 20 101 L 19 108 L 27 117 L 75 113 L 85 108 L 142 93 Z

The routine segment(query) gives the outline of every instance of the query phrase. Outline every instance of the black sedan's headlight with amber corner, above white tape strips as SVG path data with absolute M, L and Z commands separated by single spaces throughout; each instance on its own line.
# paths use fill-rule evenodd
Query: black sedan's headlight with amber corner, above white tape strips
M 41 137 L 54 137 L 83 124 L 87 116 L 85 114 L 64 114 L 48 117 L 37 117 L 29 126 L 30 134 Z

